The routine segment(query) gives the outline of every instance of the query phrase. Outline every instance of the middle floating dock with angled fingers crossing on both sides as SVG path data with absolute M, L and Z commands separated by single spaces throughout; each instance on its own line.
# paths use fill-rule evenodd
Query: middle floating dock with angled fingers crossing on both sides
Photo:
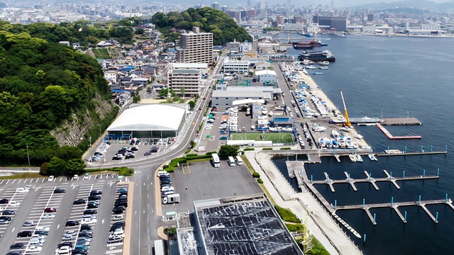
M 329 188 L 331 189 L 331 192 L 335 192 L 334 186 L 333 186 L 333 184 L 335 184 L 335 183 L 349 183 L 350 186 L 352 186 L 353 191 L 358 191 L 358 189 L 355 186 L 355 183 L 368 182 L 368 183 L 371 183 L 372 186 L 374 186 L 375 190 L 378 191 L 379 188 L 378 188 L 377 184 L 375 183 L 377 181 L 389 181 L 389 182 L 393 183 L 397 189 L 400 189 L 400 186 L 399 186 L 399 184 L 397 184 L 397 181 L 410 181 L 410 180 L 424 180 L 424 179 L 438 179 L 439 178 L 439 176 L 394 177 L 394 176 L 391 176 L 388 173 L 388 171 L 386 171 L 386 170 L 383 170 L 383 172 L 386 175 L 386 177 L 372 178 L 372 176 L 370 176 L 370 174 L 367 171 L 364 171 L 364 174 L 366 176 L 365 179 L 352 179 L 352 178 L 350 178 L 350 175 L 346 171 L 344 171 L 343 173 L 345 174 L 345 177 L 347 178 L 344 180 L 331 180 L 331 179 L 329 179 L 328 174 L 323 173 L 325 175 L 325 180 L 323 180 L 323 181 L 310 181 L 309 180 L 309 183 L 310 184 L 327 184 L 329 186 Z

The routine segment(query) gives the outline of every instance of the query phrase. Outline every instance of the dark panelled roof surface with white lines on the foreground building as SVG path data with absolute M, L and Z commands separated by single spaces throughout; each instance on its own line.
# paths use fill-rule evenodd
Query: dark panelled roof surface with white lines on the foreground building
M 206 245 L 218 255 L 301 254 L 270 206 L 257 200 L 202 209 Z

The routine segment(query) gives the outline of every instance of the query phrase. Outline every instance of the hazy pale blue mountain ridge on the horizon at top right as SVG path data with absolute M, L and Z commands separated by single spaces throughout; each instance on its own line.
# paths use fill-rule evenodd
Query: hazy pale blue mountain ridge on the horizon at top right
M 411 0 L 411 1 L 396 1 L 393 3 L 373 3 L 373 4 L 362 4 L 355 6 L 360 9 L 392 9 L 392 8 L 411 8 L 416 10 L 428 10 L 428 11 L 453 11 L 454 1 L 448 1 L 444 3 L 435 3 L 433 1 L 426 0 Z

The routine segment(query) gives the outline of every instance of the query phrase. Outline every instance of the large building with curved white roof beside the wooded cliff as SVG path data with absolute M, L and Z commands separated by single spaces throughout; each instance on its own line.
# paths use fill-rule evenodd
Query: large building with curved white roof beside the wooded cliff
M 132 104 L 107 128 L 108 140 L 177 137 L 187 118 L 186 103 Z

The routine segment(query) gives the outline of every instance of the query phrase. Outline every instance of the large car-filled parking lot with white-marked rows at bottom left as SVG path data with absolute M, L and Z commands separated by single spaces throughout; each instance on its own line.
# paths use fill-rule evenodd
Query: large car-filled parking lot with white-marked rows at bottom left
M 93 177 L 79 177 L 74 181 L 58 177 L 54 181 L 43 178 L 1 180 L 0 199 L 7 199 L 9 202 L 1 204 L 0 207 L 4 217 L 11 217 L 9 224 L 0 225 L 0 246 L 4 247 L 1 254 L 9 252 L 9 247 L 13 244 L 19 248 L 15 250 L 21 251 L 22 254 L 55 254 L 57 245 L 62 242 L 70 242 L 74 248 L 78 237 L 82 237 L 78 234 L 79 230 L 87 227 L 82 227 L 82 224 L 87 224 L 92 231 L 92 234 L 86 234 L 92 235 L 92 239 L 86 238 L 86 244 L 90 244 L 87 254 L 122 254 L 123 242 L 108 244 L 107 240 L 109 227 L 114 222 L 112 208 L 118 196 L 116 190 L 128 184 L 118 184 L 116 179 L 106 176 L 100 176 L 98 179 Z M 93 217 L 84 217 L 85 210 L 89 209 L 87 202 L 92 191 L 102 192 L 98 195 L 100 199 L 96 200 L 99 202 L 98 207 L 92 208 L 97 213 Z M 85 203 L 73 204 L 75 200 L 82 199 Z M 8 212 L 9 210 L 14 214 Z M 72 221 L 77 222 L 77 225 Z M 37 232 L 38 230 L 48 233 Z M 30 237 L 30 234 L 23 231 L 40 233 L 41 236 Z M 23 232 L 21 237 L 18 237 L 19 232 Z M 70 238 L 70 235 L 73 238 Z M 66 238 L 62 239 L 65 236 Z M 33 243 L 41 246 L 32 245 L 31 238 L 39 240 Z M 85 248 L 87 247 L 83 249 Z M 62 254 L 67 253 L 62 251 Z

